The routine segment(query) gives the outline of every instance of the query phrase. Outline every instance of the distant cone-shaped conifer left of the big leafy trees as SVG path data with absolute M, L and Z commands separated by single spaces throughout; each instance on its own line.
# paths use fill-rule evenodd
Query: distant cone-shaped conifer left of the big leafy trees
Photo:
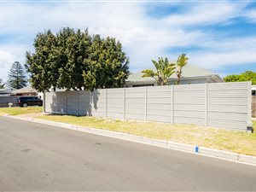
M 20 62 L 15 61 L 8 74 L 7 85 L 15 89 L 21 89 L 26 86 L 26 73 Z

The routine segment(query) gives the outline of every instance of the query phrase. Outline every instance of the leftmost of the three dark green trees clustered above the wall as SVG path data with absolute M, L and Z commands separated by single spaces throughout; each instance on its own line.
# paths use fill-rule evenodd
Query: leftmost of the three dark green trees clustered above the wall
M 59 58 L 57 42 L 50 31 L 40 32 L 34 40 L 35 52 L 26 52 L 26 69 L 31 74 L 30 83 L 38 91 L 57 86 Z

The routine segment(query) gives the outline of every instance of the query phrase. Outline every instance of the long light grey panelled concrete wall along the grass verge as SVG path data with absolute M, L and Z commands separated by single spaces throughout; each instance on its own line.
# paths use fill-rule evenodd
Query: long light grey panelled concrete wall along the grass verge
M 247 131 L 251 82 L 44 93 L 45 113 L 194 124 Z

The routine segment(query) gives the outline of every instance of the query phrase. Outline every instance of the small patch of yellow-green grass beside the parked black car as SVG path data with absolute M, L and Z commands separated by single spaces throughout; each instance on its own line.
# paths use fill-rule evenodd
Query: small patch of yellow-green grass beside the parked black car
M 19 115 L 26 113 L 42 113 L 43 107 L 28 107 L 28 108 L 0 108 L 0 114 L 7 113 L 10 115 Z

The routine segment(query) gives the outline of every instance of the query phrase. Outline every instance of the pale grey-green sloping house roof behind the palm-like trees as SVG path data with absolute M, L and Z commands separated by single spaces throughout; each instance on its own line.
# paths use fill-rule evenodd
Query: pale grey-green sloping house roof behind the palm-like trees
M 154 69 L 153 69 L 154 70 Z M 183 67 L 182 78 L 195 78 L 195 77 L 202 77 L 202 76 L 211 76 L 213 73 L 205 68 L 197 67 L 191 64 L 187 64 Z M 176 79 L 176 73 L 173 73 L 170 79 Z M 142 72 L 133 73 L 129 76 L 127 81 L 151 81 L 154 80 L 153 78 L 143 78 Z

